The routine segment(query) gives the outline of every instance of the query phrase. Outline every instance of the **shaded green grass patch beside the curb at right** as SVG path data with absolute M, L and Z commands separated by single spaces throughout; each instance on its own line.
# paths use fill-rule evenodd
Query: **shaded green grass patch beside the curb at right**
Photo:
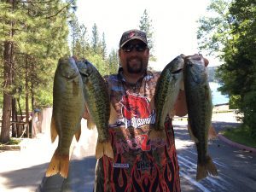
M 227 128 L 225 131 L 222 131 L 222 134 L 233 142 L 256 148 L 256 140 L 251 137 L 250 131 L 246 127 L 239 126 L 236 129 Z

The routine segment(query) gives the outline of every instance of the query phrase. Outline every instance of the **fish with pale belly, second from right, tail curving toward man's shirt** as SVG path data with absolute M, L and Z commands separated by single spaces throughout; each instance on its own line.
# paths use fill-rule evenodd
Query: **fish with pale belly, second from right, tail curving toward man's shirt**
M 166 138 L 166 116 L 172 115 L 183 82 L 184 55 L 178 55 L 160 73 L 154 91 L 155 121 L 150 125 L 149 138 Z

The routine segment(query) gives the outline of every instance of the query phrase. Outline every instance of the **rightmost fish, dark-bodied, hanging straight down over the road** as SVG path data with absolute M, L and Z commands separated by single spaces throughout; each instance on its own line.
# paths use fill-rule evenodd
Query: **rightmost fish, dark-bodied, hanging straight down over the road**
M 212 126 L 212 93 L 208 84 L 207 67 L 201 55 L 185 57 L 183 73 L 189 134 L 196 145 L 196 180 L 199 181 L 208 175 L 218 175 L 207 150 L 209 129 Z

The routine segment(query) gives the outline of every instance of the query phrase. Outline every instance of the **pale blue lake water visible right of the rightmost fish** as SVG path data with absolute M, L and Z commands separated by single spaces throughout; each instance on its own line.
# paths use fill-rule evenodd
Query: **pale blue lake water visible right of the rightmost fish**
M 210 88 L 212 90 L 212 104 L 224 104 L 229 102 L 229 96 L 222 95 L 217 89 L 220 86 L 218 83 L 210 82 Z

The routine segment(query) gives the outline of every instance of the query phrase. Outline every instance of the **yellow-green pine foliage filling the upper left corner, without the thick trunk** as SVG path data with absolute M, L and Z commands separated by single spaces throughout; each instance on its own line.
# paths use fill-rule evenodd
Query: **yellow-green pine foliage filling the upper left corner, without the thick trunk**
M 37 105 L 44 104 L 45 99 L 37 94 L 51 84 L 57 60 L 69 52 L 67 18 L 70 6 L 70 3 L 54 0 L 49 3 L 17 2 L 12 9 L 11 4 L 0 3 L 0 19 L 3 20 L 0 44 L 7 40 L 15 44 L 14 78 L 10 86 L 15 98 L 21 88 L 20 98 L 29 92 L 28 96 L 34 97 Z M 3 51 L 3 46 L 0 50 Z M 52 95 L 52 89 L 49 90 L 45 90 L 46 97 Z M 21 106 L 25 106 L 24 100 L 21 101 Z

